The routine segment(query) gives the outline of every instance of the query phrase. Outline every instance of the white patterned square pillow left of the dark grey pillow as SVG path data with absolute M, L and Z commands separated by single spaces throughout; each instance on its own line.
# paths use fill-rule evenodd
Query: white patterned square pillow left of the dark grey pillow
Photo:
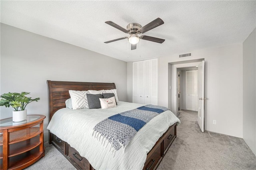
M 73 109 L 88 108 L 88 101 L 86 98 L 87 91 L 69 90 L 68 92 L 72 101 Z

